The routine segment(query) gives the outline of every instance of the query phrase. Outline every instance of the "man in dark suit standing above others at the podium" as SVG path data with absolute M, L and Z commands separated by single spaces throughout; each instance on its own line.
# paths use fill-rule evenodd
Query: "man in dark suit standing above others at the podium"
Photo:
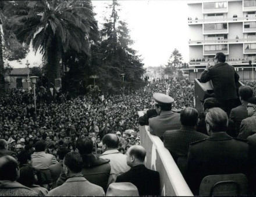
M 226 56 L 224 53 L 216 53 L 213 60 L 214 66 L 209 65 L 208 62 L 204 72 L 201 74 L 200 82 L 212 81 L 214 93 L 220 107 L 229 115 L 232 108 L 237 107 L 235 83 L 239 81 L 239 75 L 232 65 L 225 63 Z

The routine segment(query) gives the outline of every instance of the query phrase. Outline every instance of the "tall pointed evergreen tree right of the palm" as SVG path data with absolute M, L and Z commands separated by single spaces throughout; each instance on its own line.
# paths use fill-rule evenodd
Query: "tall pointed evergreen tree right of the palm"
M 109 5 L 112 10 L 109 19 L 105 17 L 104 27 L 101 30 L 102 68 L 99 75 L 106 89 L 118 90 L 122 86 L 131 87 L 134 83 L 143 82 L 143 63 L 130 45 L 133 41 L 125 21 L 119 20 L 119 3 L 113 0 Z M 125 82 L 122 75 L 125 74 Z

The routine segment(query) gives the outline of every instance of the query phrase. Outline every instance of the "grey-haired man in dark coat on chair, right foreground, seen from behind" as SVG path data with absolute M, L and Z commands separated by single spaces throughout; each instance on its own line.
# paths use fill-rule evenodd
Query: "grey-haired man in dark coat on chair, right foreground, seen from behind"
M 221 108 L 211 108 L 205 122 L 209 137 L 191 143 L 187 158 L 186 181 L 198 195 L 202 178 L 214 174 L 248 174 L 249 145 L 226 134 L 227 114 Z

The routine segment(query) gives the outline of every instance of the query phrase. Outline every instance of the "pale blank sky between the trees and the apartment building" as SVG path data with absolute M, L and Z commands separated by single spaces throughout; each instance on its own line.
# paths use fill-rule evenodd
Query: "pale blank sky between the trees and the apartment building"
M 105 7 L 111 1 L 94 0 L 95 18 L 99 28 L 104 23 L 104 16 L 109 16 L 109 10 Z M 176 48 L 183 56 L 183 61 L 189 61 L 189 27 L 187 25 L 187 1 L 180 0 L 127 0 L 119 1 L 119 19 L 126 21 L 130 30 L 131 46 L 141 55 L 144 67 L 157 67 L 168 63 L 170 54 Z M 10 62 L 14 68 L 24 67 L 29 60 L 30 67 L 41 64 L 42 55 L 33 49 L 22 64 L 16 61 Z

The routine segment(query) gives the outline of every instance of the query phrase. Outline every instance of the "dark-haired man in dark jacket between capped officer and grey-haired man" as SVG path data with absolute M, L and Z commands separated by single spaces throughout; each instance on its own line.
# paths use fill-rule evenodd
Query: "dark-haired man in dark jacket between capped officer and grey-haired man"
M 163 135 L 163 145 L 170 151 L 176 162 L 180 156 L 187 157 L 190 143 L 208 137 L 196 132 L 195 127 L 198 121 L 198 112 L 195 108 L 184 108 L 180 112 L 182 127 L 179 130 L 168 130 Z

